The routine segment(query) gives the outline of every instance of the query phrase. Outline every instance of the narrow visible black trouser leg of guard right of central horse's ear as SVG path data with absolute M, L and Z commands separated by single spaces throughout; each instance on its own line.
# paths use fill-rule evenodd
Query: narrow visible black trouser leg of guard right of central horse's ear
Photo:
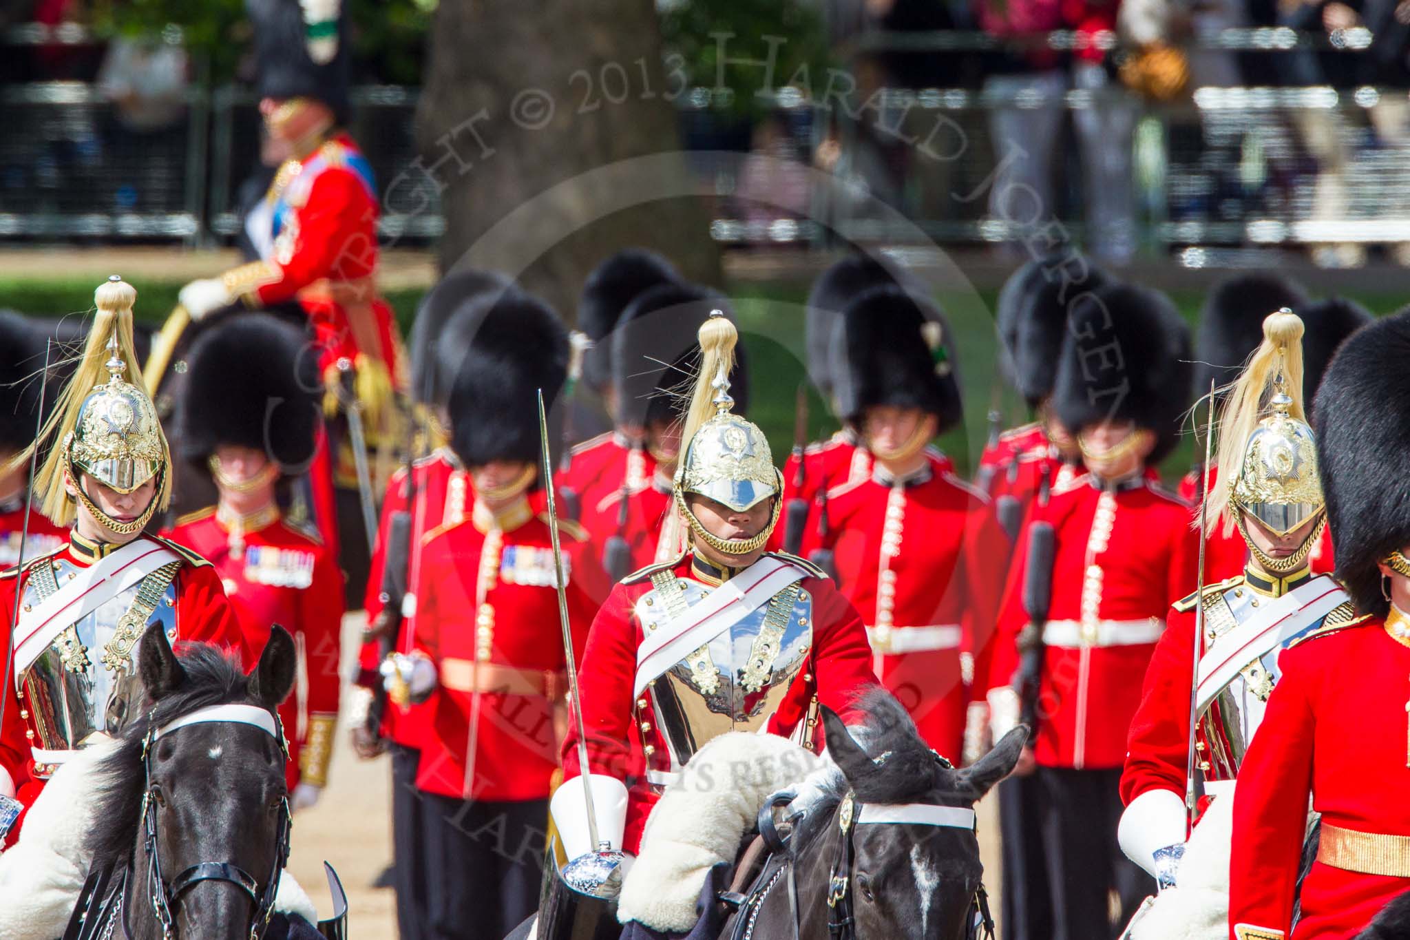
M 1048 940 L 1053 906 L 1042 839 L 1042 785 L 1034 775 L 998 785 L 998 830 L 1004 860 L 1004 940 Z

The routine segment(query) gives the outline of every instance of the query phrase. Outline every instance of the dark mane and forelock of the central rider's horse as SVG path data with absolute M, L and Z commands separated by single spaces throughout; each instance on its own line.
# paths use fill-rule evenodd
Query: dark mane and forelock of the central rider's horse
M 935 802 L 936 791 L 946 791 L 952 784 L 953 772 L 936 760 L 935 751 L 915 730 L 915 722 L 891 693 L 873 689 L 859 699 L 856 707 L 866 717 L 847 730 L 871 758 L 874 769 L 862 779 L 847 779 L 842 768 L 825 755 L 822 767 L 802 782 L 791 805 L 791 809 L 804 812 L 791 840 L 794 851 L 802 851 L 814 841 L 847 792 L 862 803 L 914 803 L 928 798 Z

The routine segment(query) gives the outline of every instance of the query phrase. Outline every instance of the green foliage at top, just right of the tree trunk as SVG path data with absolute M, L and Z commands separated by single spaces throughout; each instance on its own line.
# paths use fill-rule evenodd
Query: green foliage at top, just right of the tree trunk
M 759 92 L 777 93 L 790 80 L 811 87 L 829 65 L 822 17 L 799 0 L 673 0 L 661 11 L 661 38 L 668 55 L 684 58 L 691 87 L 712 90 L 713 107 L 740 118 L 770 110 Z M 771 59 L 771 79 L 742 59 Z

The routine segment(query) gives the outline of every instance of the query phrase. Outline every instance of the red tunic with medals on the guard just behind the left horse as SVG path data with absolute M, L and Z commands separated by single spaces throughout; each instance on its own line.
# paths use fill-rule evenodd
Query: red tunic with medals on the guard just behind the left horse
M 206 557 L 220 575 L 245 644 L 262 650 L 278 623 L 293 636 L 302 681 L 279 706 L 289 741 L 286 778 L 327 784 L 338 717 L 343 575 L 323 543 L 279 517 L 274 506 L 235 526 L 214 509 L 178 521 L 171 537 Z

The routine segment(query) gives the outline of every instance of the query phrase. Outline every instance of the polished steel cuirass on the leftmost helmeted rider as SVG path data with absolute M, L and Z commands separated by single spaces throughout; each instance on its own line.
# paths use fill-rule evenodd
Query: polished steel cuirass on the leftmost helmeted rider
M 54 574 L 52 581 L 42 565 Z M 80 571 L 65 554 L 42 565 L 31 569 L 25 581 L 25 609 L 38 605 Z M 18 676 L 35 748 L 76 750 L 94 734 L 117 734 L 133 717 L 141 696 L 138 640 L 149 623 L 159 623 L 169 638 L 176 637 L 176 588 L 165 574 L 162 568 L 147 575 L 142 582 L 70 624 Z M 161 581 L 154 582 L 154 578 L 165 579 L 159 595 L 155 589 Z M 155 599 L 149 614 L 145 613 L 147 605 L 134 607 L 144 586 L 148 592 L 145 599 Z M 128 616 L 128 612 L 138 616 Z M 38 757 L 37 762 L 44 764 Z

